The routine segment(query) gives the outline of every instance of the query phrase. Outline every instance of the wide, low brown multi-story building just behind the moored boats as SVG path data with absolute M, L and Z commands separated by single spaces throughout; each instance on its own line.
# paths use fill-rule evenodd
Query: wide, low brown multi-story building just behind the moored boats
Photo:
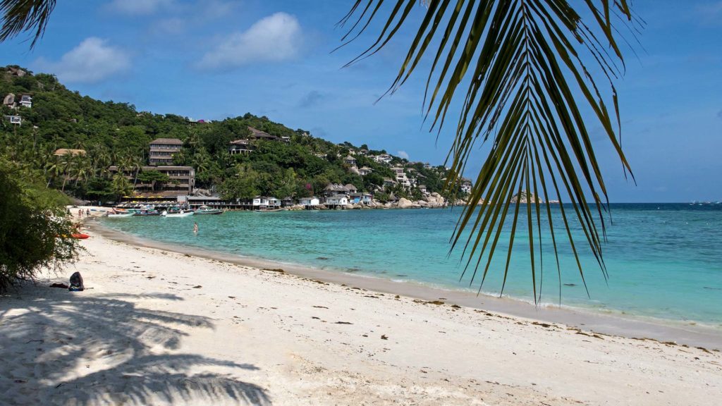
M 118 172 L 117 166 L 108 168 L 111 173 Z M 196 186 L 196 170 L 192 166 L 144 166 L 142 171 L 157 170 L 170 178 L 169 182 L 162 184 L 142 183 L 136 181 L 134 168 L 123 170 L 123 175 L 134 183 L 136 195 L 180 196 L 193 193 Z

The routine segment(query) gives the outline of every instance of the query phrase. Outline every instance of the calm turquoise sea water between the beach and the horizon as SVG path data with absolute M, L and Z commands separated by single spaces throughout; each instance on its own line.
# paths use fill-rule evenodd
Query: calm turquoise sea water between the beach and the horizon
M 460 280 L 461 250 L 448 255 L 448 240 L 460 213 L 459 208 L 227 212 L 105 219 L 104 224 L 166 243 L 476 292 L 479 277 L 471 286 L 470 272 Z M 560 280 L 549 233 L 542 233 L 543 303 L 558 303 L 561 289 L 566 306 L 722 327 L 722 204 L 612 204 L 614 222 L 606 220 L 608 242 L 603 249 L 608 281 L 586 242 L 576 240 L 591 298 L 565 236 L 557 233 Z M 199 224 L 197 235 L 192 232 L 193 222 Z M 526 232 L 526 225 L 518 226 L 504 294 L 533 301 L 528 239 L 520 230 Z M 484 293 L 500 292 L 508 233 L 505 236 L 482 287 Z

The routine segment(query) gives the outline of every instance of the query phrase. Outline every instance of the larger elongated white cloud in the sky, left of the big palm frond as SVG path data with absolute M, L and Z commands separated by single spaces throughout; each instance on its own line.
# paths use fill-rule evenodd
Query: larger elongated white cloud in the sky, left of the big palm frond
M 299 53 L 302 34 L 296 17 L 279 12 L 258 20 L 243 33 L 231 34 L 207 52 L 198 67 L 223 69 L 293 59 Z

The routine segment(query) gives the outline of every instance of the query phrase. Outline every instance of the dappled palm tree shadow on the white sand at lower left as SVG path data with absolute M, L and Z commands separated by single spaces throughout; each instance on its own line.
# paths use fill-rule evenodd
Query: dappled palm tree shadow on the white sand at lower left
M 182 300 L 40 287 L 0 296 L 0 349 L 12 363 L 0 368 L 4 402 L 271 404 L 265 389 L 232 376 L 256 366 L 174 352 L 188 335 L 181 328 L 212 329 L 210 319 L 129 301 L 141 298 Z

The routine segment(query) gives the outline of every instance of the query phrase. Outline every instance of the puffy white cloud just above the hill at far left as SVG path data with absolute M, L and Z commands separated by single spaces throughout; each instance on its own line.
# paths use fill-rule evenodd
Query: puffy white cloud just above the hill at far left
M 90 37 L 63 55 L 60 61 L 35 61 L 35 66 L 56 74 L 62 82 L 93 83 L 127 71 L 130 56 L 119 48 L 109 46 L 107 40 Z

